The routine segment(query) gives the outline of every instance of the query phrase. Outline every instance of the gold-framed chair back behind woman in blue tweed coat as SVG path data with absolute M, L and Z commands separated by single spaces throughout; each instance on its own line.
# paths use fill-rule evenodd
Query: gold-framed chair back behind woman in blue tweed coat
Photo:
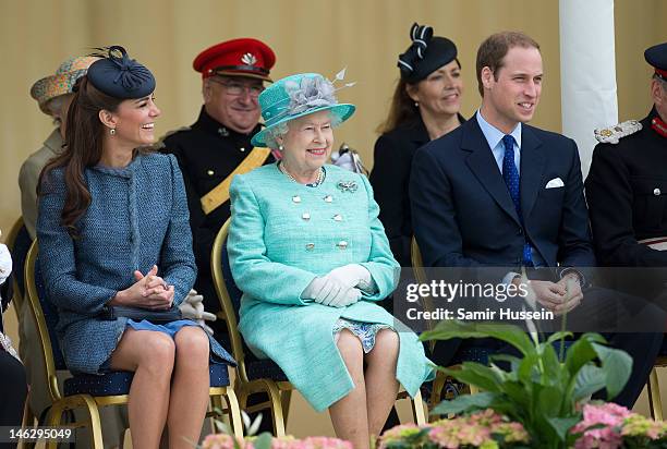
M 41 356 L 46 366 L 47 378 L 45 383 L 48 386 L 51 401 L 56 402 L 62 398 L 56 372 L 58 369 L 66 369 L 66 366 L 56 335 L 58 308 L 47 299 L 46 286 L 37 260 L 38 252 L 39 247 L 37 240 L 35 240 L 25 259 L 25 288 L 29 310 L 37 325 Z

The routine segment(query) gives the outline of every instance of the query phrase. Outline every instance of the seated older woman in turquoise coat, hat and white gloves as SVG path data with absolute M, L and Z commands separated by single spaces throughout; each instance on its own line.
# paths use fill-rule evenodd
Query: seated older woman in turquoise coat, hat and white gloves
M 282 159 L 237 175 L 229 255 L 243 291 L 240 330 L 275 361 L 336 434 L 368 447 L 396 400 L 430 375 L 417 337 L 377 304 L 400 267 L 365 177 L 326 165 L 332 128 L 354 112 L 318 74 L 288 76 L 259 96 L 253 145 Z

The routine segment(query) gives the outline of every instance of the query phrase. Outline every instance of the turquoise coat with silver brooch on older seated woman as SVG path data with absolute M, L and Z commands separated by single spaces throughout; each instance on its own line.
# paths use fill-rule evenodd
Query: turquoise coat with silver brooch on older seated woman
M 316 187 L 298 184 L 277 165 L 234 177 L 229 256 L 244 292 L 239 328 L 259 357 L 276 362 L 311 405 L 323 411 L 354 384 L 333 340 L 339 318 L 389 325 L 399 331 L 396 377 L 414 396 L 432 373 L 416 335 L 376 304 L 389 295 L 400 267 L 389 248 L 365 177 L 327 165 Z M 377 284 L 347 307 L 302 300 L 317 276 L 361 264 Z

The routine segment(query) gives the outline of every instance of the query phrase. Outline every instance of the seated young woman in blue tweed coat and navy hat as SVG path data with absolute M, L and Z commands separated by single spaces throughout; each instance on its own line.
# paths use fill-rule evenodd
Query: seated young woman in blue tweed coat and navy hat
M 65 147 L 41 174 L 39 262 L 68 368 L 134 372 L 132 446 L 157 448 L 167 425 L 170 448 L 190 448 L 208 404 L 209 354 L 229 354 L 191 320 L 101 318 L 108 306 L 178 305 L 196 276 L 179 166 L 136 149 L 154 141 L 154 89 L 121 47 L 78 82 Z

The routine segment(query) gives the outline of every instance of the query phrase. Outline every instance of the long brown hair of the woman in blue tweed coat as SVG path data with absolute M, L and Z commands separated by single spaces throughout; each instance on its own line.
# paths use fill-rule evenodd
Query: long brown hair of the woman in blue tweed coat
M 62 208 L 61 225 L 71 236 L 77 235 L 76 222 L 90 205 L 90 192 L 86 185 L 84 171 L 97 165 L 102 155 L 102 138 L 106 126 L 99 120 L 99 111 L 116 112 L 123 101 L 102 94 L 82 76 L 76 85 L 77 92 L 68 110 L 68 126 L 63 151 L 51 159 L 39 175 L 38 195 L 43 194 L 43 182 L 49 173 L 64 169 L 65 202 Z

